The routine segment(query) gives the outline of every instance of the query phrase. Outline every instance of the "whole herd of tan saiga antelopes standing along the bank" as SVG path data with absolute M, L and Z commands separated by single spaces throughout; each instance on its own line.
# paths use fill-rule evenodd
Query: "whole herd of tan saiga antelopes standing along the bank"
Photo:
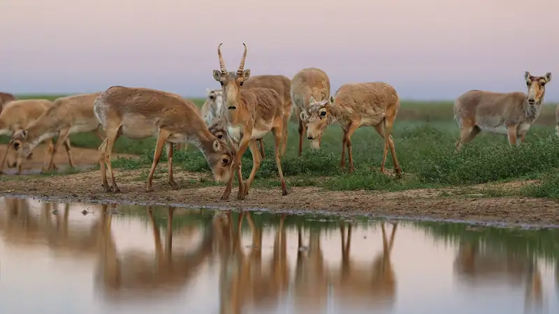
M 371 126 L 384 138 L 380 170 L 384 172 L 390 149 L 395 173 L 402 170 L 396 157 L 392 129 L 400 108 L 400 98 L 394 87 L 385 82 L 343 84 L 334 95 L 328 75 L 319 68 L 303 68 L 290 80 L 284 75 L 251 76 L 245 68 L 247 46 L 235 72 L 226 70 L 221 46 L 217 47 L 219 70 L 213 78 L 221 89 L 208 89 L 201 110 L 190 100 L 177 94 L 147 88 L 113 86 L 103 93 L 81 94 L 55 100 L 16 100 L 11 94 L 0 93 L 0 135 L 11 135 L 10 145 L 3 156 L 0 171 L 8 151 L 17 151 L 15 163 L 21 173 L 22 160 L 31 158 L 31 150 L 40 142 L 49 143 L 50 158 L 43 170 L 55 169 L 54 154 L 60 144 L 66 148 L 73 165 L 68 135 L 95 132 L 103 143 L 99 147 L 101 181 L 106 192 L 119 192 L 110 163 L 112 146 L 120 135 L 140 140 L 157 137 L 154 160 L 146 181 L 152 188 L 154 170 L 163 148 L 168 156 L 168 184 L 178 188 L 173 179 L 173 144 L 194 144 L 205 156 L 218 182 L 226 182 L 222 200 L 228 199 L 235 174 L 238 177 L 238 199 L 244 200 L 259 170 L 264 153 L 263 136 L 274 138 L 274 158 L 282 187 L 287 187 L 281 159 L 286 151 L 287 122 L 296 110 L 299 124 L 298 156 L 301 156 L 303 135 L 311 147 L 321 147 L 324 130 L 339 124 L 344 131 L 340 167 L 349 159 L 349 172 L 354 171 L 351 135 L 362 126 Z M 511 146 L 524 142 L 525 134 L 542 112 L 546 84 L 551 73 L 535 76 L 525 72 L 528 93 L 496 93 L 471 90 L 462 94 L 453 105 L 454 117 L 460 127 L 456 149 L 470 142 L 481 130 L 507 135 Z M 556 110 L 559 136 L 559 107 Z M 59 140 L 52 144 L 52 137 Z M 518 140 L 518 138 L 520 140 Z M 260 146 L 260 147 L 259 147 Z M 242 181 L 241 156 L 246 149 L 252 154 L 252 170 Z M 108 184 L 107 171 L 111 184 Z

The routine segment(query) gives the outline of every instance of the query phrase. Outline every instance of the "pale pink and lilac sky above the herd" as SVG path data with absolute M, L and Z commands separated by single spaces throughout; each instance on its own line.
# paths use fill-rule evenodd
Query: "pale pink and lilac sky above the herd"
M 125 85 L 203 96 L 219 87 L 221 42 L 230 69 L 244 42 L 253 75 L 316 66 L 332 93 L 382 80 L 401 98 L 452 99 L 524 91 L 525 70 L 559 77 L 556 0 L 9 0 L 0 12 L 0 90 L 13 93 Z M 547 101 L 559 100 L 556 80 Z

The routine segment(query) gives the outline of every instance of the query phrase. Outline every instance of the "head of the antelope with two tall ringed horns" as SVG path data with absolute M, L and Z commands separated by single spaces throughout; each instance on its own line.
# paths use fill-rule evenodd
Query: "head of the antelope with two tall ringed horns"
M 240 87 L 242 86 L 242 83 L 250 77 L 250 70 L 245 70 L 247 45 L 245 45 L 245 43 L 242 43 L 242 45 L 245 46 L 245 53 L 242 54 L 237 72 L 227 72 L 222 56 L 222 44 L 220 43 L 217 47 L 219 70 L 213 70 L 213 75 L 214 79 L 219 82 L 219 84 L 222 84 L 223 102 L 229 112 L 237 109 Z

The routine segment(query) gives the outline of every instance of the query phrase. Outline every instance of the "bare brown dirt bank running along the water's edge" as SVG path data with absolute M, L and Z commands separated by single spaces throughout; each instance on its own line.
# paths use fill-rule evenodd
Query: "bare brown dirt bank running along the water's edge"
M 161 166 L 160 166 L 161 167 Z M 137 202 L 149 204 L 196 204 L 223 208 L 270 210 L 324 210 L 341 214 L 375 214 L 474 220 L 510 224 L 559 225 L 559 202 L 521 197 L 474 198 L 442 196 L 443 190 L 421 189 L 398 193 L 375 191 L 332 192 L 319 188 L 288 188 L 282 196 L 279 188 L 254 188 L 247 200 L 231 197 L 221 201 L 224 187 L 196 188 L 188 182 L 201 174 L 176 172 L 179 190 L 171 190 L 165 176 L 154 179 L 154 192 L 145 193 L 143 172 L 115 170 L 121 193 L 104 193 L 99 171 L 60 177 L 33 177 L 0 182 L 0 195 L 49 196 L 82 202 Z M 48 182 L 48 184 L 47 184 Z M 191 187 L 189 187 L 191 186 Z M 444 190 L 448 195 L 449 190 Z

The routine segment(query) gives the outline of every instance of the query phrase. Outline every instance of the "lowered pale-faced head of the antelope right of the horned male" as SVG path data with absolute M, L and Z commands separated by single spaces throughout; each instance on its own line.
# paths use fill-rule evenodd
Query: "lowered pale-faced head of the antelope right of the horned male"
M 312 141 L 314 148 L 317 148 L 317 140 L 320 139 L 326 127 L 333 123 L 331 109 L 334 105 L 334 96 L 321 101 L 316 101 L 311 97 L 307 112 L 300 113 L 301 120 L 307 124 L 307 138 Z

